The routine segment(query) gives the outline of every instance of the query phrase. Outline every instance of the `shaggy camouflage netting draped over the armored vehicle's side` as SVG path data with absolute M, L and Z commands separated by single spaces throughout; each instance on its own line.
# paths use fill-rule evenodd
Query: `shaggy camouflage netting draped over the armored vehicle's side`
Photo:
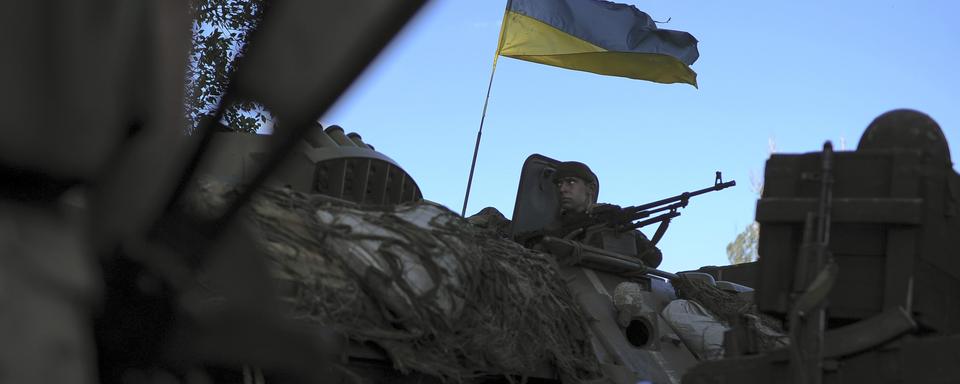
M 207 181 L 197 195 L 211 207 L 234 193 Z M 445 207 L 358 209 L 266 189 L 249 222 L 295 292 L 294 316 L 379 345 L 401 371 L 462 381 L 547 362 L 567 377 L 600 375 L 550 257 Z

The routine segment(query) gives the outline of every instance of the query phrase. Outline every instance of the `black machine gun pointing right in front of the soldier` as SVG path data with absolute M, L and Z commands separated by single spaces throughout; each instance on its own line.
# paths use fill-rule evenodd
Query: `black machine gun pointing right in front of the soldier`
M 660 223 L 651 243 L 656 245 L 670 226 L 670 220 L 680 216 L 679 209 L 690 202 L 690 198 L 705 193 L 719 191 L 737 185 L 736 180 L 723 181 L 723 175 L 717 171 L 713 185 L 693 192 L 684 192 L 679 195 L 653 201 L 646 204 L 621 208 L 612 204 L 602 204 L 592 212 L 583 214 L 573 220 L 567 220 L 559 230 L 548 231 L 550 235 L 566 239 L 580 238 L 584 234 L 610 228 L 617 232 L 638 229 L 650 224 Z M 651 217 L 652 215 L 656 215 Z

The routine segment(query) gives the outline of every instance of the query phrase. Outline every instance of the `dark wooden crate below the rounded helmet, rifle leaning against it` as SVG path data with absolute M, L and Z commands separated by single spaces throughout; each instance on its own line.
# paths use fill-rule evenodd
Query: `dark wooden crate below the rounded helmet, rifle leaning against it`
M 960 330 L 960 226 L 956 174 L 919 151 L 833 154 L 829 246 L 839 267 L 827 297 L 830 325 L 902 307 L 921 326 Z M 803 287 L 804 223 L 822 187 L 820 152 L 773 155 L 757 203 L 756 302 L 783 317 Z

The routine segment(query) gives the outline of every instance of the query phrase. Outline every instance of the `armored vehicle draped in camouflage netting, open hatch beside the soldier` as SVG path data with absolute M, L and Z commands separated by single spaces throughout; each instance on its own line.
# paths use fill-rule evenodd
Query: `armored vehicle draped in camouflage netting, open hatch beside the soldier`
M 605 232 L 601 247 L 546 237 L 540 250 L 548 253 L 514 242 L 529 242 L 531 232 L 553 220 L 558 208 L 550 176 L 557 161 L 541 155 L 527 160 L 513 223 L 503 227 L 480 220 L 490 217 L 465 220 L 423 201 L 410 175 L 355 133 L 316 127 L 308 137 L 299 147 L 302 156 L 293 156 L 254 200 L 251 231 L 274 265 L 293 315 L 350 340 L 340 361 L 353 374 L 374 382 L 677 383 L 697 362 L 703 349 L 688 348 L 660 315 L 677 298 L 669 282 L 677 276 L 631 257 L 632 243 L 618 241 L 612 231 Z M 213 146 L 218 156 L 207 172 L 243 185 L 244 175 L 256 172 L 266 139 L 219 134 Z M 211 190 L 199 194 L 216 200 Z M 290 219 L 276 219 L 284 215 Z M 304 215 L 316 219 L 297 219 Z M 312 238 L 298 240 L 293 233 Z M 383 280 L 372 283 L 371 274 Z M 484 279 L 471 276 L 476 274 Z M 331 295 L 325 289 L 360 293 Z M 495 290 L 507 294 L 485 292 Z M 351 295 L 362 297 L 349 299 L 358 307 L 388 307 L 392 319 L 384 322 L 381 311 L 356 308 L 344 323 L 337 312 L 351 311 L 338 306 Z M 526 345 L 478 340 L 504 335 Z

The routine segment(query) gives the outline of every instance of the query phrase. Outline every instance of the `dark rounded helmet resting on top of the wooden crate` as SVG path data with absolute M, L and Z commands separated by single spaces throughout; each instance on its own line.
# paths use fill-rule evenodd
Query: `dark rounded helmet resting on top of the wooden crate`
M 912 109 L 895 109 L 877 116 L 860 137 L 857 150 L 919 149 L 951 164 L 947 139 L 930 116 Z

